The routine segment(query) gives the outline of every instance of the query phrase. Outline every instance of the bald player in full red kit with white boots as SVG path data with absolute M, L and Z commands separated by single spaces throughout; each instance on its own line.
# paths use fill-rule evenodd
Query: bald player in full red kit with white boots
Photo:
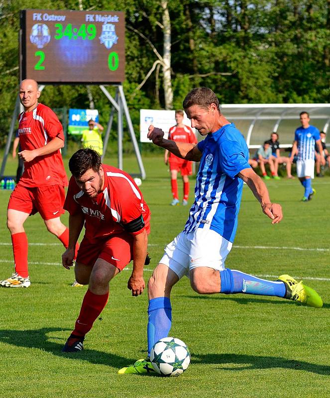
M 65 174 L 60 149 L 64 146 L 63 128 L 55 113 L 38 103 L 38 84 L 31 79 L 19 86 L 19 98 L 24 112 L 19 115 L 19 157 L 24 160 L 24 173 L 12 192 L 7 209 L 7 227 L 11 234 L 15 273 L 0 281 L 0 286 L 29 287 L 27 237 L 23 224 L 29 215 L 39 212 L 49 232 L 65 247 L 69 230 L 62 224 L 64 213 Z

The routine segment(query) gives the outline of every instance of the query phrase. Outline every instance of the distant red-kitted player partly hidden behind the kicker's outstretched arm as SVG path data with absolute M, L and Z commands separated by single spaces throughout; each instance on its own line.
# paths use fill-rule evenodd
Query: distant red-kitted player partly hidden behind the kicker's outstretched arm
M 183 124 L 183 110 L 175 111 L 175 120 L 177 124 L 170 128 L 168 139 L 176 142 L 186 142 L 190 144 L 197 144 L 196 135 L 193 130 Z M 176 206 L 180 203 L 179 195 L 178 195 L 178 183 L 177 176 L 178 171 L 180 170 L 182 180 L 183 180 L 183 200 L 182 204 L 185 206 L 188 204 L 188 196 L 189 196 L 189 176 L 192 174 L 191 163 L 188 160 L 180 159 L 177 156 L 173 155 L 173 153 L 169 152 L 167 149 L 165 150 L 164 155 L 165 164 L 169 164 L 170 172 L 171 172 L 171 188 L 172 188 L 172 196 L 173 200 L 171 202 L 172 206 Z

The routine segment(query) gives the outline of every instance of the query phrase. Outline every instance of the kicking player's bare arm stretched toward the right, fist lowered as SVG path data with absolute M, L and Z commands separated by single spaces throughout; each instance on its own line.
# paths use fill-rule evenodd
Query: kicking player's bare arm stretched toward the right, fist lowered
M 272 224 L 278 224 L 283 218 L 282 207 L 280 204 L 270 201 L 267 187 L 261 178 L 252 169 L 241 170 L 238 177 L 247 184 L 258 199 L 262 211 L 272 220 Z

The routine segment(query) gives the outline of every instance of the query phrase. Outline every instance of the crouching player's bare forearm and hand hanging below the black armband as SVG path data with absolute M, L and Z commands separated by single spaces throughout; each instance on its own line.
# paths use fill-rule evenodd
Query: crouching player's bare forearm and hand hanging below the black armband
M 127 282 L 127 288 L 132 291 L 132 296 L 143 293 L 145 283 L 143 279 L 143 268 L 147 256 L 148 235 L 146 230 L 133 235 L 133 271 Z

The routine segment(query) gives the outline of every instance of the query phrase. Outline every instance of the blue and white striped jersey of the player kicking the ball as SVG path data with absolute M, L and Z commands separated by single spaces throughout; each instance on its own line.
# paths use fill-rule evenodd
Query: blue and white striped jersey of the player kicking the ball
M 198 143 L 202 152 L 196 178 L 195 202 L 185 225 L 185 233 L 209 228 L 233 242 L 243 181 L 237 174 L 250 168 L 244 137 L 233 123 L 210 133 Z

